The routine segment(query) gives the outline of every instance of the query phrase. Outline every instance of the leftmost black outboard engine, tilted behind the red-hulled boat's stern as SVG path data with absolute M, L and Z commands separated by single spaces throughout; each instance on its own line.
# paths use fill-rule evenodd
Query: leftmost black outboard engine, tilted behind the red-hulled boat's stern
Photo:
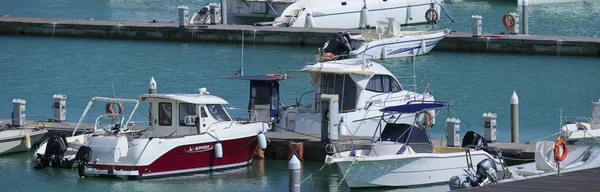
M 63 157 L 67 151 L 67 138 L 63 135 L 53 135 L 46 142 L 46 151 L 44 155 L 37 154 L 34 168 L 43 169 L 45 167 L 59 167 L 64 163 Z

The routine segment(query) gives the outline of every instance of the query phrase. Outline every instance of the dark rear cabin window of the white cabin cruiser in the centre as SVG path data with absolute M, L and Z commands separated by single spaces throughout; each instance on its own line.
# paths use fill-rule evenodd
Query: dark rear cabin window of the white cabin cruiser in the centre
M 337 94 L 340 97 L 339 109 L 342 111 L 356 108 L 356 83 L 350 75 L 324 74 L 321 94 Z

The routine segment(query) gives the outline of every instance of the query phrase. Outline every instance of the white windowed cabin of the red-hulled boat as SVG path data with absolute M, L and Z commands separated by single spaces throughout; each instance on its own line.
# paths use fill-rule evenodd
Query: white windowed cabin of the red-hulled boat
M 144 94 L 140 100 L 150 105 L 153 133 L 149 134 L 154 134 L 150 137 L 201 134 L 215 124 L 231 122 L 223 108 L 227 101 L 209 95 L 206 88 L 198 94 Z

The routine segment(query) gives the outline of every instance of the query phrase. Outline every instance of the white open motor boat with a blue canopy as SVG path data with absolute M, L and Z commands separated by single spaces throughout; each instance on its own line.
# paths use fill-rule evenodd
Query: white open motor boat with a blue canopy
M 451 177 L 463 173 L 468 160 L 492 159 L 494 166 L 505 167 L 501 159 L 478 148 L 487 145 L 479 134 L 467 133 L 463 138 L 464 148 L 433 146 L 428 134 L 430 127 L 416 126 L 418 119 L 405 124 L 398 123 L 397 118 L 385 118 L 385 114 L 403 116 L 447 107 L 448 104 L 442 102 L 419 102 L 383 108 L 380 121 L 387 123 L 374 131 L 380 133 L 379 137 L 374 136 L 366 144 L 354 144 L 350 150 L 338 152 L 335 145 L 328 147 L 325 162 L 338 165 L 340 175 L 350 188 L 443 185 Z M 470 154 L 469 158 L 465 151 Z

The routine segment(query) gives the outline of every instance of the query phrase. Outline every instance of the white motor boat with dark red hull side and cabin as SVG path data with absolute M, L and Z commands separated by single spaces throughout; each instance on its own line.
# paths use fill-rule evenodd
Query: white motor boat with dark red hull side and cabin
M 134 138 L 119 132 L 92 136 L 79 149 L 91 157 L 78 166 L 80 176 L 140 179 L 234 168 L 266 148 L 269 125 L 232 120 L 222 106 L 227 101 L 206 88 L 139 100 L 149 103 L 150 127 Z

